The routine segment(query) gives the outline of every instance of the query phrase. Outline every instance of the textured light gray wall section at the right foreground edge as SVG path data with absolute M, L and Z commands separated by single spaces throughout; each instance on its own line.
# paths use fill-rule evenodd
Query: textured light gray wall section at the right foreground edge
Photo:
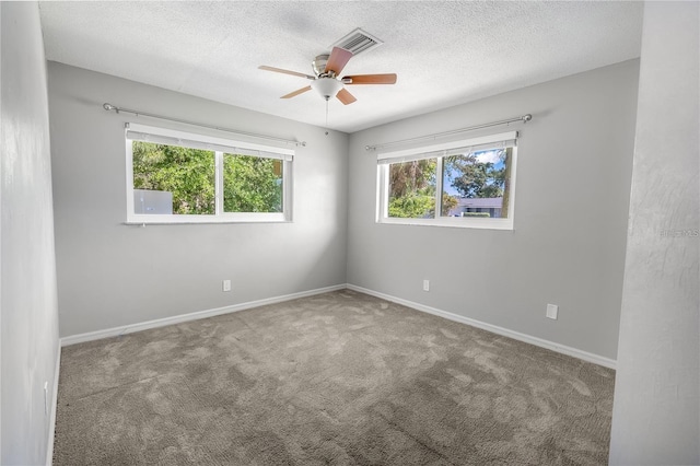
M 700 4 L 649 2 L 610 463 L 700 464 Z

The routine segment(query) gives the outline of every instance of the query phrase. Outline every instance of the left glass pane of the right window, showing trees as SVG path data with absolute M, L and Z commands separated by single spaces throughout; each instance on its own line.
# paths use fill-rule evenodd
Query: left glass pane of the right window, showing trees
M 433 219 L 438 159 L 389 165 L 388 217 Z

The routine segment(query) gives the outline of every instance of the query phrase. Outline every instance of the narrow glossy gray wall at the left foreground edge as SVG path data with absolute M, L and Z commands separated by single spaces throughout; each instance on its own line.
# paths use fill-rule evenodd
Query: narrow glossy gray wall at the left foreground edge
M 0 12 L 0 464 L 39 465 L 49 450 L 59 351 L 46 61 L 37 4 L 1 2 Z

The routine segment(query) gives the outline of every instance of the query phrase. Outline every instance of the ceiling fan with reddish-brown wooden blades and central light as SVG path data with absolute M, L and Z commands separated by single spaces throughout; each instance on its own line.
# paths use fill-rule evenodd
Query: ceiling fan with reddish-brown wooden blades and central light
M 345 89 L 345 85 L 355 84 L 395 84 L 396 74 L 354 74 L 340 77 L 340 72 L 352 58 L 352 53 L 345 48 L 334 47 L 330 55 L 319 55 L 312 62 L 314 74 L 305 74 L 296 71 L 283 70 L 281 68 L 261 66 L 261 70 L 275 71 L 277 73 L 291 74 L 311 80 L 311 84 L 299 89 L 280 98 L 291 98 L 306 91 L 314 89 L 326 101 L 330 97 L 338 97 L 345 105 L 352 104 L 357 98 Z

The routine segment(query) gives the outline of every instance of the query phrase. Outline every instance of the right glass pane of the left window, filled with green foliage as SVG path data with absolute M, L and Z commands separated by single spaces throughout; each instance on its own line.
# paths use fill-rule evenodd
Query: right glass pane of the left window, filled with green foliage
M 283 161 L 223 154 L 224 212 L 282 212 Z

